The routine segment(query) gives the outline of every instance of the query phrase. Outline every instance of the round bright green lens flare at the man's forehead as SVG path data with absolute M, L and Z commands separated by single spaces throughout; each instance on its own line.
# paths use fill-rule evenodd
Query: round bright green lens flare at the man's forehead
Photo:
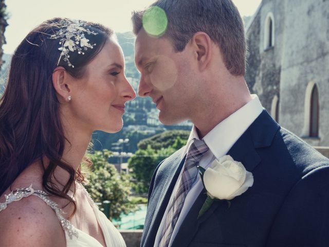
M 143 14 L 143 28 L 150 36 L 161 37 L 167 30 L 168 19 L 165 10 L 154 6 Z

